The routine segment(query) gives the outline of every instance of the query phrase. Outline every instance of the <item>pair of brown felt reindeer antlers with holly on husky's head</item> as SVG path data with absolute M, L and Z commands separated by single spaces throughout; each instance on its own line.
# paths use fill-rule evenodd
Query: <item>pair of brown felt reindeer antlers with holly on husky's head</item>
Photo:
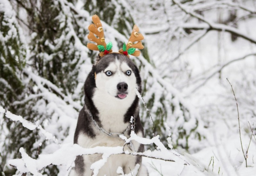
M 92 21 L 94 24 L 91 24 L 88 27 L 88 29 L 90 31 L 89 35 L 88 35 L 88 39 L 96 42 L 97 45 L 95 45 L 93 43 L 88 43 L 87 48 L 100 51 L 100 57 L 102 57 L 103 55 L 106 55 L 106 54 L 112 52 L 112 50 L 111 50 L 112 43 L 108 42 L 108 44 L 106 44 L 106 42 L 105 42 L 103 28 L 100 23 L 100 18 L 97 15 L 93 15 Z M 95 35 L 98 36 L 98 38 Z M 144 39 L 144 37 L 141 33 L 139 33 L 138 26 L 134 25 L 129 41 L 127 42 L 126 45 L 124 43 L 123 48 L 120 49 L 118 52 L 121 54 L 127 55 L 128 57 L 129 57 L 129 55 L 139 56 L 140 51 L 135 51 L 135 50 L 136 50 L 136 48 L 138 48 L 138 49 L 144 48 L 144 46 L 142 45 L 142 42 L 141 42 L 141 40 L 143 40 L 143 39 Z M 134 43 L 134 42 L 137 42 L 137 43 Z

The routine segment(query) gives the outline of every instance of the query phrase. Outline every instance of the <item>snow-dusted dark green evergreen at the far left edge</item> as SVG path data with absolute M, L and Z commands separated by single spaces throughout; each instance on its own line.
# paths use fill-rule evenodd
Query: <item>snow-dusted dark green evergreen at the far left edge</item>
M 8 1 L 0 4 L 0 105 L 11 107 L 22 92 L 20 70 L 25 65 L 26 44 L 16 13 Z

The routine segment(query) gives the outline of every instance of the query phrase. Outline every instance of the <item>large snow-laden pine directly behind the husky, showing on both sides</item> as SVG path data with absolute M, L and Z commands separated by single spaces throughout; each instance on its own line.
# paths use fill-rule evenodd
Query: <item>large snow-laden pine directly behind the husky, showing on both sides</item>
M 12 113 L 42 125 L 56 136 L 58 142 L 45 140 L 40 130 L 30 131 L 13 122 L 8 126 L 10 135 L 6 136 L 8 142 L 3 147 L 6 153 L 2 165 L 6 165 L 8 159 L 20 158 L 20 147 L 29 156 L 37 158 L 38 151 L 51 153 L 58 149 L 58 143 L 72 142 L 78 112 L 83 105 L 84 80 L 97 55 L 97 52 L 86 48 L 91 16 L 95 13 L 100 16 L 106 30 L 106 41 L 112 41 L 116 51 L 122 48 L 134 24 L 130 4 L 119 0 L 105 5 L 100 0 L 85 4 L 68 0 L 13 0 L 12 7 L 17 14 L 26 14 L 17 18 L 23 24 L 23 37 L 26 36 L 29 46 L 21 77 L 24 89 L 19 99 L 12 103 L 16 107 Z M 110 7 L 114 12 L 109 12 Z M 140 57 L 132 59 L 141 70 L 143 98 L 155 122 L 155 134 L 166 143 L 169 133 L 164 127 L 166 121 L 172 130 L 174 146 L 188 149 L 190 140 L 200 139 L 197 131 L 199 120 L 193 109 L 189 108 L 179 91 L 160 76 L 146 49 Z M 152 136 L 152 122 L 142 102 L 141 108 L 146 136 Z M 42 173 L 57 175 L 60 167 L 48 166 Z M 9 171 L 8 168 L 4 170 L 5 173 Z

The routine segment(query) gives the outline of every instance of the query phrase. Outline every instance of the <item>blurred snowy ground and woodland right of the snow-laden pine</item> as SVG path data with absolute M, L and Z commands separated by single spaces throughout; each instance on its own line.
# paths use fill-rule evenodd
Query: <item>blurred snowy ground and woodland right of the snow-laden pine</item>
M 137 4 L 136 1 L 132 1 L 132 3 Z M 149 52 L 156 64 L 156 68 L 158 68 L 162 75 L 166 75 L 165 80 L 172 82 L 174 87 L 181 90 L 185 100 L 198 111 L 207 127 L 207 134 L 206 141 L 201 150 L 188 154 L 181 149 L 177 149 L 190 165 L 143 158 L 144 165 L 147 165 L 151 176 L 256 175 L 256 139 L 255 136 L 252 136 L 250 142 L 252 132 L 249 126 L 249 123 L 252 127 L 253 123 L 256 122 L 256 86 L 252 83 L 255 82 L 256 75 L 255 45 L 239 37 L 236 41 L 232 42 L 230 40 L 230 33 L 211 31 L 182 53 L 183 49 L 196 40 L 202 32 L 193 31 L 187 37 L 178 38 L 177 40 L 166 40 L 168 37 L 175 35 L 174 32 L 176 32 L 170 33 L 172 29 L 169 29 L 169 33 L 163 32 L 168 29 L 168 26 L 175 28 L 176 26 L 187 24 L 182 24 L 182 20 L 171 20 L 169 24 L 164 23 L 165 18 L 180 19 L 181 17 L 176 17 L 174 13 L 168 14 L 168 2 L 163 0 L 161 3 L 166 3 L 166 9 L 162 9 L 163 13 L 158 14 L 158 16 L 154 15 L 154 13 L 159 13 L 157 10 L 153 11 L 151 15 L 147 8 L 142 10 L 135 8 L 135 10 L 141 12 L 135 18 L 142 31 L 144 30 L 146 33 L 149 33 L 146 35 L 146 39 L 148 48 L 154 48 L 150 49 Z M 239 1 L 239 3 L 247 5 L 248 8 L 252 8 L 255 11 L 255 4 L 252 1 Z M 152 2 L 152 4 L 156 5 L 156 2 Z M 191 9 L 192 7 L 187 8 Z M 143 13 L 148 13 L 151 20 L 145 20 L 144 18 L 147 18 L 147 15 L 145 15 L 146 17 L 142 16 Z M 241 15 L 244 12 L 239 11 L 238 13 Z M 220 16 L 225 18 L 227 13 L 225 11 L 218 11 L 217 13 L 212 11 L 204 14 L 204 17 L 212 22 L 216 21 L 216 18 Z M 177 25 L 177 23 L 180 24 Z M 189 23 L 191 26 L 196 26 L 196 24 L 200 25 L 197 22 L 194 24 Z M 250 36 L 254 40 L 256 39 L 255 19 L 241 21 L 238 24 L 238 29 L 241 33 Z M 162 32 L 158 33 L 159 31 Z M 182 53 L 179 59 L 170 62 L 179 53 Z M 243 58 L 251 53 L 254 56 L 245 57 L 229 64 L 230 61 Z M 225 66 L 226 63 L 228 63 L 227 66 Z M 184 65 L 187 67 L 182 70 Z M 224 68 L 221 72 L 218 72 L 222 66 Z M 177 67 L 180 68 L 180 71 Z M 175 74 L 177 70 L 178 73 Z M 172 77 L 168 79 L 170 75 Z M 233 85 L 238 102 L 241 139 L 244 155 L 248 157 L 248 167 L 246 167 L 241 148 L 236 101 L 226 78 Z M 253 133 L 255 134 L 255 124 Z M 248 153 L 246 154 L 247 149 Z

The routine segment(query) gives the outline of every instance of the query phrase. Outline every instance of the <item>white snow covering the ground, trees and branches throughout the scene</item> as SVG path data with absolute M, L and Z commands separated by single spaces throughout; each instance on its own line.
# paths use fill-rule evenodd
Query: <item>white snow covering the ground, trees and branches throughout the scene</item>
M 148 61 L 142 55 L 139 59 L 131 57 L 140 67 L 143 84 L 148 89 L 142 95 L 138 91 L 136 92 L 142 105 L 141 110 L 143 109 L 143 112 L 140 110 L 140 116 L 145 122 L 144 128 L 146 130 L 152 128 L 151 119 L 147 119 L 149 113 L 152 114 L 153 120 L 159 119 L 159 116 L 162 115 L 161 113 L 155 115 L 159 109 L 164 109 L 164 113 L 167 114 L 164 127 L 161 127 L 162 133 L 156 134 L 155 137 L 146 136 L 142 138 L 133 131 L 128 139 L 125 136 L 120 136 L 124 143 L 135 140 L 145 145 L 156 145 L 156 150 L 137 153 L 124 151 L 123 147 L 84 149 L 72 143 L 78 111 L 83 104 L 81 103 L 83 102 L 81 94 L 84 80 L 91 70 L 92 63 L 88 59 L 90 58 L 89 50 L 84 44 L 87 41 L 82 41 L 79 38 L 81 36 L 78 37 L 73 26 L 72 19 L 74 17 L 71 11 L 76 11 L 76 15 L 83 18 L 83 20 L 76 21 L 80 31 L 86 30 L 89 25 L 90 14 L 83 9 L 84 2 L 81 0 L 77 1 L 76 5 L 66 0 L 54 1 L 55 5 L 60 4 L 63 10 L 58 19 L 62 21 L 60 28 L 63 27 L 66 30 L 63 31 L 60 38 L 54 40 L 54 44 L 50 40 L 46 40 L 44 45 L 52 50 L 58 50 L 62 43 L 74 38 L 74 45 L 70 44 L 70 50 L 68 51 L 75 52 L 72 64 L 76 62 L 78 64 L 76 64 L 76 68 L 71 74 L 78 73 L 76 77 L 78 83 L 73 94 L 63 93 L 64 91 L 60 87 L 38 76 L 36 71 L 30 67 L 23 70 L 23 73 L 28 75 L 24 83 L 33 82 L 35 84 L 33 90 L 40 93 L 29 94 L 25 99 L 14 102 L 13 105 L 19 106 L 30 100 L 38 99 L 34 110 L 39 114 L 46 114 L 51 119 L 28 121 L 0 106 L 1 124 L 4 123 L 6 118 L 9 118 L 14 122 L 19 121 L 24 128 L 39 131 L 40 139 L 33 145 L 34 148 L 38 148 L 38 158 L 35 159 L 34 156 L 29 156 L 24 149 L 25 147 L 21 147 L 19 151 L 22 158 L 9 160 L 9 164 L 17 167 L 17 175 L 26 172 L 33 175 L 42 175 L 42 169 L 48 165 L 57 165 L 59 176 L 67 175 L 71 167 L 74 166 L 77 155 L 93 153 L 103 154 L 102 159 L 91 166 L 94 175 L 97 175 L 100 167 L 107 162 L 109 156 L 120 153 L 143 156 L 142 165 L 147 167 L 150 176 L 167 176 L 170 174 L 177 176 L 255 175 L 256 140 L 252 136 L 249 146 L 251 131 L 248 122 L 252 125 L 255 122 L 256 114 L 256 48 L 251 43 L 256 42 L 254 32 L 256 23 L 254 18 L 248 17 L 247 19 L 248 14 L 255 13 L 255 4 L 253 5 L 253 1 L 238 1 L 235 3 L 229 0 L 204 1 L 204 3 L 198 0 L 188 2 L 189 5 L 187 3 L 181 4 L 178 0 L 174 0 L 174 2 L 180 7 L 171 4 L 171 1 L 167 2 L 165 0 L 159 2 L 114 1 L 117 7 L 114 18 L 119 19 L 120 11 L 125 10 L 121 8 L 120 4 L 127 6 L 126 10 L 132 13 L 137 25 L 141 26 L 140 31 L 145 35 L 145 46 L 147 46 L 151 58 Z M 96 1 L 93 1 L 93 3 L 95 6 L 97 5 Z M 131 7 L 130 5 L 134 3 L 135 5 Z M 152 10 L 152 7 L 155 10 Z M 223 19 L 228 18 L 228 13 L 222 12 L 224 8 L 232 11 L 234 8 L 240 7 L 243 11 L 241 9 L 237 11 L 238 18 L 240 20 L 242 18 L 246 19 L 239 21 L 237 28 L 219 24 L 218 20 L 221 16 Z M 220 10 L 218 10 L 219 8 Z M 202 9 L 207 13 L 204 15 L 195 13 L 195 11 Z M 20 37 L 23 43 L 26 43 L 25 35 L 22 33 L 23 29 L 19 26 L 15 18 L 16 13 L 9 1 L 0 0 L 0 12 L 2 11 L 9 19 L 5 25 L 9 26 L 10 30 L 6 36 L 0 34 L 1 42 L 16 36 Z M 136 15 L 134 15 L 135 13 Z M 189 14 L 196 16 L 200 19 L 200 22 L 198 22 L 198 19 L 190 17 Z M 125 13 L 125 15 L 128 18 L 128 13 Z M 106 30 L 106 40 L 112 41 L 113 50 L 117 51 L 117 39 L 126 41 L 128 40 L 127 34 L 123 35 L 114 29 L 113 27 L 116 27 L 117 24 L 107 24 L 104 21 L 102 21 L 102 24 L 104 30 Z M 132 28 L 128 21 L 125 22 L 125 25 Z M 210 26 L 221 32 L 208 32 Z M 189 28 L 194 29 L 190 31 L 191 34 L 185 32 L 185 29 Z M 231 42 L 229 33 L 225 31 L 238 33 L 243 39 L 238 38 L 235 42 Z M 36 36 L 37 33 L 32 33 L 30 37 L 35 38 Z M 24 47 L 26 48 L 26 46 Z M 30 51 L 26 52 L 28 58 Z M 53 58 L 53 55 L 46 53 L 41 53 L 40 56 L 48 62 Z M 67 63 L 63 63 L 63 67 L 66 66 L 65 64 Z M 226 77 L 233 84 L 238 100 L 239 111 L 241 112 L 242 146 L 244 151 L 249 146 L 248 154 L 246 154 L 249 167 L 246 167 L 241 149 L 236 103 L 230 86 L 225 80 Z M 6 80 L 0 78 L 0 82 L 11 89 L 11 85 Z M 152 100 L 153 94 L 152 107 L 147 107 L 146 104 Z M 163 98 L 164 100 L 161 101 Z M 171 109 L 170 106 L 175 108 Z M 131 122 L 132 119 L 131 117 Z M 60 128 L 61 130 L 59 130 Z M 195 128 L 196 130 L 194 130 Z M 184 130 L 189 137 L 186 138 L 187 136 L 185 136 L 179 139 L 181 130 Z M 8 135 L 8 129 L 3 127 L 1 132 L 0 146 L 3 146 L 5 137 Z M 64 135 L 65 132 L 68 135 Z M 197 133 L 202 135 L 201 142 L 196 138 Z M 188 151 L 179 147 L 173 149 L 177 141 L 183 147 L 186 146 L 188 141 Z M 169 148 L 167 149 L 163 143 L 167 144 Z M 126 174 L 126 176 L 136 175 L 138 167 L 139 165 L 135 167 L 133 173 Z M 121 167 L 118 168 L 117 173 L 124 175 Z

